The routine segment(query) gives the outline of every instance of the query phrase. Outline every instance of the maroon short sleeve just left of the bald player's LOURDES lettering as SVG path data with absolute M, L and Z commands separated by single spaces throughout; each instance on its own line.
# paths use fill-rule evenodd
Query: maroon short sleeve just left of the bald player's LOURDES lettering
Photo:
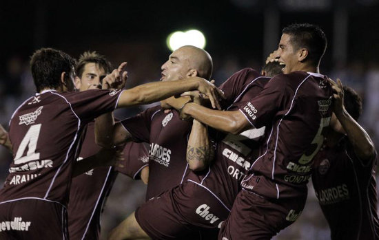
M 123 164 L 116 166 L 116 171 L 132 177 L 141 179 L 140 172 L 149 165 L 148 151 L 143 143 L 128 142 L 123 149 Z

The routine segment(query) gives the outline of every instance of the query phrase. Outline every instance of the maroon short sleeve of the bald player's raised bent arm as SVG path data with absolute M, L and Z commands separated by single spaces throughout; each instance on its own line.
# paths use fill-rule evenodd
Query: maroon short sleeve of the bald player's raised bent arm
M 150 129 L 154 114 L 161 111 L 160 106 L 147 109 L 136 116 L 121 121 L 123 127 L 132 134 L 135 142 L 150 143 Z

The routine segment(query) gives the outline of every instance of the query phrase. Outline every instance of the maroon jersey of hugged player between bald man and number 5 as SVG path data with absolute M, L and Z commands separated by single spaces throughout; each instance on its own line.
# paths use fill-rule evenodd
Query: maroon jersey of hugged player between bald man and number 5
M 254 69 L 246 68 L 233 74 L 221 85 L 226 96 L 225 109 L 238 111 L 257 96 L 269 82 Z M 223 206 L 230 210 L 240 190 L 240 182 L 249 171 L 258 151 L 258 140 L 265 128 L 252 129 L 238 135 L 217 132 L 214 162 L 203 173 L 189 173 L 188 181 L 210 191 Z

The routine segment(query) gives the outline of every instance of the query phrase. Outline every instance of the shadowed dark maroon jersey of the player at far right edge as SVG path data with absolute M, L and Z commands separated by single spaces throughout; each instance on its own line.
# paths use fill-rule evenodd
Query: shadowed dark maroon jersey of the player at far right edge
M 378 157 L 361 162 L 351 144 L 321 149 L 312 182 L 331 239 L 379 239 L 375 168 Z

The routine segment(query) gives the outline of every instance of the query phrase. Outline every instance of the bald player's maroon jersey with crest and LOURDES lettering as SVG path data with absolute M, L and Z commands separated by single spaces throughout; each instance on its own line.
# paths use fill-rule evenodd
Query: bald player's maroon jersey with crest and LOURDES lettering
M 146 199 L 183 182 L 189 172 L 186 153 L 192 122 L 181 120 L 176 111 L 166 114 L 156 106 L 121 123 L 135 141 L 150 143 Z

